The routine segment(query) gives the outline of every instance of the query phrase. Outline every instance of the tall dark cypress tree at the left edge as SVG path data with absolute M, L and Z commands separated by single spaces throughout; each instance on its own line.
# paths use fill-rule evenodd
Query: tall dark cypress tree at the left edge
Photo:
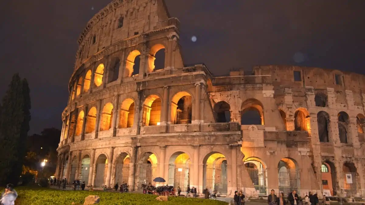
M 17 184 L 22 174 L 30 121 L 30 90 L 26 79 L 14 74 L 0 114 L 0 184 Z

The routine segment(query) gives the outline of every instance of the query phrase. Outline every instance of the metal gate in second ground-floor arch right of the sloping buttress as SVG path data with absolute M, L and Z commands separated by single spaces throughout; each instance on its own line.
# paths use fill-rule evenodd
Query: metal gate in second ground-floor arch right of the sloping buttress
M 300 170 L 297 171 L 278 171 L 279 191 L 286 196 L 296 190 L 300 195 Z

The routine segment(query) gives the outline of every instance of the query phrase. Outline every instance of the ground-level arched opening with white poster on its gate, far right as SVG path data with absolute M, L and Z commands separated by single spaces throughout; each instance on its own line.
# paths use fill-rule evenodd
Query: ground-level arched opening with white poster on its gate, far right
M 354 197 L 357 193 L 357 171 L 354 163 L 343 164 L 343 188 L 348 197 Z

